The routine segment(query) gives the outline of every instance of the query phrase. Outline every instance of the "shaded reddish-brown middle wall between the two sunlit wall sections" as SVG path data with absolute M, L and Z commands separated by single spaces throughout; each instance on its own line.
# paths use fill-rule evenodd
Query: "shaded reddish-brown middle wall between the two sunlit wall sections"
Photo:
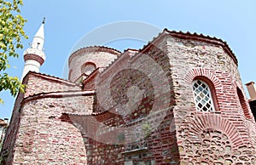
M 160 49 L 163 45 L 150 45 L 141 54 L 127 51 L 96 78 L 97 101 L 103 107 L 98 111 L 110 111 L 121 116 L 103 120 L 105 127 L 99 129 L 99 138 L 102 136 L 121 143 L 111 154 L 122 163 L 179 162 L 172 120 L 175 101 L 171 65 L 170 59 Z M 95 148 L 103 146 L 94 145 Z M 105 156 L 98 154 L 93 153 L 96 157 L 92 164 L 105 160 Z M 102 155 L 108 156 L 108 152 Z

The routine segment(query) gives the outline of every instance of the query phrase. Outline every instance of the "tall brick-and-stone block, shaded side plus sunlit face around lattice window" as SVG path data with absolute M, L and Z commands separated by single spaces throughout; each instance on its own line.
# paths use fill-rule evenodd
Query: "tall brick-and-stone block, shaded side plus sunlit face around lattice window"
M 195 110 L 195 77 L 212 82 L 216 111 Z M 125 52 L 94 81 L 96 139 L 84 134 L 90 164 L 254 163 L 255 122 L 237 96 L 236 61 L 221 46 L 166 37 Z

